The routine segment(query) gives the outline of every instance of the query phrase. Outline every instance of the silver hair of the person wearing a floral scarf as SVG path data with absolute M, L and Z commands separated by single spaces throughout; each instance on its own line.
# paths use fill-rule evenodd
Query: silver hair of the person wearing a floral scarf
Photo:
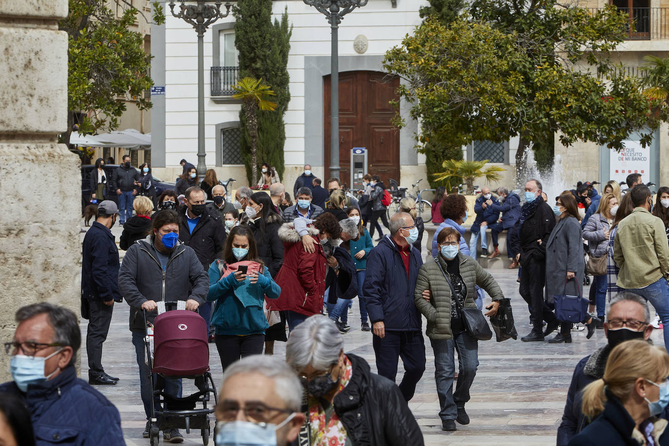
M 322 314 L 314 314 L 296 326 L 286 343 L 286 362 L 295 370 L 312 366 L 327 370 L 337 363 L 344 350 L 344 338 L 334 322 Z

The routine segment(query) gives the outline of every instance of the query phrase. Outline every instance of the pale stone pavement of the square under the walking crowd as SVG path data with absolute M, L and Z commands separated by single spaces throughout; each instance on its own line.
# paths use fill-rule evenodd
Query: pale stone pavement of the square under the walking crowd
M 415 397 L 409 407 L 418 420 L 426 445 L 481 445 L 494 442 L 496 446 L 554 445 L 555 433 L 560 424 L 567 388 L 576 363 L 595 348 L 606 342 L 603 330 L 590 340 L 585 332 L 573 332 L 572 344 L 525 343 L 520 341 L 530 330 L 527 305 L 518 295 L 517 270 L 503 266 L 506 259 L 483 260 L 484 267 L 494 275 L 504 295 L 512 299 L 518 340 L 479 343 L 478 374 L 472 386 L 472 399 L 466 405 L 470 425 L 458 425 L 458 431 L 441 430 L 438 417 L 439 401 L 434 382 L 434 356 L 426 338 L 427 365 L 419 382 Z M 587 296 L 588 288 L 585 288 Z M 488 298 L 490 302 L 490 298 Z M 372 334 L 359 327 L 357 300 L 353 300 L 353 314 L 349 316 L 351 332 L 344 336 L 345 351 L 365 358 L 376 370 Z M 425 321 L 423 321 L 423 330 Z M 86 335 L 86 321 L 82 321 L 82 335 Z M 656 343 L 662 344 L 662 333 L 653 334 Z M 82 370 L 86 376 L 86 343 L 83 343 Z M 216 385 L 221 378 L 221 363 L 213 344 L 210 344 L 210 365 Z M 277 342 L 275 352 L 285 353 L 285 343 Z M 138 368 L 134 348 L 128 331 L 128 306 L 114 305 L 114 317 L 107 341 L 104 344 L 103 364 L 112 376 L 120 377 L 116 386 L 98 386 L 118 407 L 128 445 L 148 445 L 142 439 L 145 415 L 140 399 Z M 403 370 L 399 366 L 398 382 Z M 184 385 L 184 395 L 193 390 L 192 381 Z M 184 432 L 185 435 L 185 432 Z M 199 431 L 185 435 L 185 444 L 202 444 Z M 162 441 L 162 437 L 161 437 Z

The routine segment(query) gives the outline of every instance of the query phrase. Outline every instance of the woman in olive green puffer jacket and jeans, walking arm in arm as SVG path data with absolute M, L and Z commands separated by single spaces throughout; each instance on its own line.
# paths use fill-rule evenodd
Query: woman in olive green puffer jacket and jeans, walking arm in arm
M 442 401 L 439 412 L 442 430 L 455 431 L 456 421 L 462 425 L 469 423 L 464 406 L 470 399 L 469 389 L 478 368 L 478 340 L 466 332 L 458 308 L 476 308 L 474 288 L 478 285 L 492 297 L 492 304 L 486 307 L 490 311 L 485 316 L 494 316 L 499 308 L 497 301 L 504 299 L 504 295 L 490 273 L 472 257 L 460 252 L 457 229 L 442 229 L 437 235 L 437 245 L 439 254 L 434 260 L 423 263 L 418 271 L 414 302 L 427 318 L 425 334 L 434 350 L 437 393 Z M 454 350 L 458 350 L 460 364 L 455 392 Z

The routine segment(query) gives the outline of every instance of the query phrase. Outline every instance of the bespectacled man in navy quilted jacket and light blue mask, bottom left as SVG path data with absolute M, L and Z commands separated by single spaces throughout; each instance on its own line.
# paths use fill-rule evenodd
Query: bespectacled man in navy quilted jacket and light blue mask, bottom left
M 14 339 L 5 344 L 13 381 L 0 385 L 0 394 L 23 401 L 37 445 L 124 445 L 116 407 L 77 378 L 74 313 L 44 302 L 19 308 L 15 320 Z

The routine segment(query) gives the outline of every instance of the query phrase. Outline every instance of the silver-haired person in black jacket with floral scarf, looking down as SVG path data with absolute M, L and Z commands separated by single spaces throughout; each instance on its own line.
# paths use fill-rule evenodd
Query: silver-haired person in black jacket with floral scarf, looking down
M 309 419 L 300 445 L 315 444 L 313 439 L 318 445 L 424 444 L 399 388 L 372 373 L 363 358 L 345 354 L 343 337 L 325 316 L 311 316 L 290 332 L 286 362 L 308 393 Z

